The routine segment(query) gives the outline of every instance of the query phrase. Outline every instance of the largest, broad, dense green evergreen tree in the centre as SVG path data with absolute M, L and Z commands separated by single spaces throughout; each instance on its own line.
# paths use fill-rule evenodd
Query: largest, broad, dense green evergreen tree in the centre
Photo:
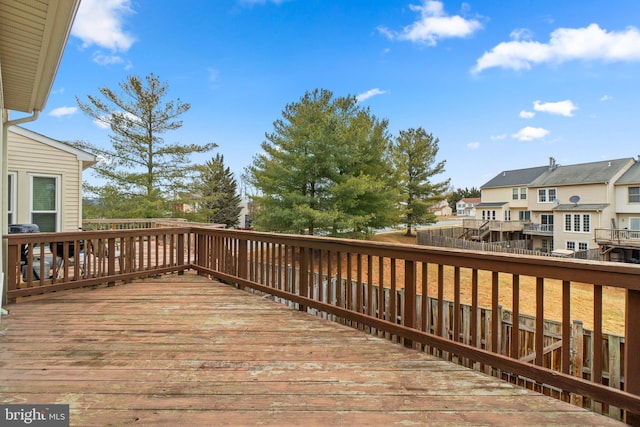
M 397 222 L 387 121 L 355 97 L 307 92 L 266 139 L 245 173 L 257 229 L 363 237 Z

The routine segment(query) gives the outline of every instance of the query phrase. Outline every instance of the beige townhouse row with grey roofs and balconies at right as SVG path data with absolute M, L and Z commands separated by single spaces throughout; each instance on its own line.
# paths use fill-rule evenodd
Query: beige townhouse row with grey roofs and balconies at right
M 478 239 L 531 240 L 532 249 L 547 252 L 601 247 L 606 255 L 616 247 L 603 247 L 596 229 L 640 230 L 640 166 L 633 158 L 566 166 L 550 158 L 548 166 L 501 172 L 481 194 L 476 221 L 467 224 Z

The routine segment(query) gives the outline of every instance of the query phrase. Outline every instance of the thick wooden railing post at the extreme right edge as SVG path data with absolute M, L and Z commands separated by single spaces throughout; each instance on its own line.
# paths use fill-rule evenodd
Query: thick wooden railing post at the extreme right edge
M 627 289 L 624 341 L 624 389 L 640 395 L 640 291 Z M 625 422 L 640 426 L 640 414 L 625 413 Z

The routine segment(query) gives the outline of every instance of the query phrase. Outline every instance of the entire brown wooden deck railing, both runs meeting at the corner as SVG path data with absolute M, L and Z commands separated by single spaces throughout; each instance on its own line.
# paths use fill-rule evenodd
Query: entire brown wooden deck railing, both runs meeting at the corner
M 628 423 L 640 423 L 640 266 L 201 227 L 5 237 L 8 295 L 14 300 L 192 268 L 406 346 L 525 379 L 565 400 L 579 397 L 614 417 L 624 412 Z M 21 262 L 22 245 L 27 247 Z M 55 248 L 51 255 L 47 247 Z M 76 248 L 83 248 L 82 255 Z M 61 260 L 54 261 L 54 251 Z M 525 343 L 520 322 L 504 328 L 500 313 L 508 305 L 513 318 L 520 318 L 520 295 L 529 288 L 535 320 L 533 332 L 527 331 L 533 342 Z M 615 307 L 623 311 L 624 363 L 615 368 L 619 384 L 608 386 L 610 376 L 603 372 L 612 368 L 604 360 L 603 319 L 612 293 L 624 294 L 624 310 Z M 556 298 L 560 331 L 550 349 L 545 314 Z M 590 318 L 575 319 L 584 304 L 593 307 Z M 584 356 L 591 362 L 586 372 L 572 366 L 574 320 L 591 325 L 595 344 Z M 525 346 L 532 351 L 521 358 Z M 552 361 L 556 348 L 560 360 Z

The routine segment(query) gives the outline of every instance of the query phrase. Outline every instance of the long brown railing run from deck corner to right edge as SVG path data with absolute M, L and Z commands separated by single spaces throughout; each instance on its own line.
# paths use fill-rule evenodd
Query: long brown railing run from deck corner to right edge
M 585 397 L 593 409 L 614 417 L 625 410 L 631 424 L 640 421 L 634 415 L 640 415 L 638 266 L 226 230 L 196 230 L 196 255 L 194 268 L 201 274 L 499 376 L 525 378 L 536 389 L 556 390 L 565 400 Z M 485 282 L 490 288 L 487 323 L 480 321 L 478 297 Z M 525 343 L 519 322 L 513 323 L 509 337 L 501 337 L 499 313 L 501 295 L 506 295 L 514 318 L 519 317 L 525 286 L 533 287 L 535 295 L 534 354 L 520 360 Z M 585 287 L 591 302 L 582 300 Z M 624 365 L 617 368 L 623 384 L 612 384 L 616 387 L 603 384 L 603 296 L 611 291 L 626 294 Z M 427 314 L 429 302 L 423 295 L 435 297 L 435 315 Z M 551 295 L 559 295 L 561 307 L 559 370 L 546 356 L 545 302 L 555 298 Z M 452 301 L 451 312 L 444 309 L 446 300 Z M 468 328 L 462 326 L 464 304 L 471 306 Z M 578 368 L 574 376 L 571 313 L 580 304 L 593 304 L 592 318 L 586 320 L 592 324 L 591 339 L 599 344 L 591 346 L 589 372 Z M 503 340 L 508 342 L 506 354 L 500 350 Z

